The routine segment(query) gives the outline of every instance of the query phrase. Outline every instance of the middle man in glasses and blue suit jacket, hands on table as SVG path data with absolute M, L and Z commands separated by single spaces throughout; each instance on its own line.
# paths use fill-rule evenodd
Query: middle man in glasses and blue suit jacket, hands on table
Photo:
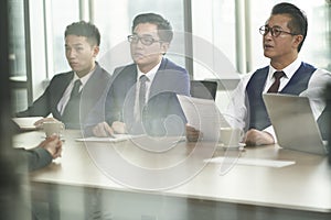
M 184 68 L 163 57 L 172 37 L 172 28 L 161 15 L 135 18 L 128 36 L 134 64 L 115 69 L 106 121 L 92 129 L 94 135 L 183 133 L 185 117 L 175 95 L 190 95 L 190 78 Z

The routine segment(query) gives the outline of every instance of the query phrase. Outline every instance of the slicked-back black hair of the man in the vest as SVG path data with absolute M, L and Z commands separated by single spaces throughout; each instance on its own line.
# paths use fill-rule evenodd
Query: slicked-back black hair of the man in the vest
M 275 14 L 288 14 L 291 18 L 291 21 L 288 23 L 288 28 L 293 33 L 301 34 L 303 36 L 302 42 L 298 46 L 298 52 L 300 52 L 308 31 L 308 20 L 306 13 L 295 4 L 282 2 L 273 8 L 271 15 Z

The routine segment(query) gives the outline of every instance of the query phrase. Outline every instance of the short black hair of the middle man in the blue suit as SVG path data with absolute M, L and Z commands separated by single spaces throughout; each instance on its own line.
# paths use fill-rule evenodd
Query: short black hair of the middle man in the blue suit
M 170 22 L 160 14 L 156 13 L 142 13 L 138 14 L 132 22 L 132 32 L 136 26 L 141 23 L 151 23 L 158 26 L 158 34 L 160 38 L 164 42 L 171 42 L 173 37 L 173 31 Z

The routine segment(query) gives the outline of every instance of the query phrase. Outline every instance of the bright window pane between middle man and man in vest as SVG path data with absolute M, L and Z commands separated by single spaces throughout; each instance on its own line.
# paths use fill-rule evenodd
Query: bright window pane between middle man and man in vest
M 234 77 L 235 2 L 192 1 L 194 78 Z

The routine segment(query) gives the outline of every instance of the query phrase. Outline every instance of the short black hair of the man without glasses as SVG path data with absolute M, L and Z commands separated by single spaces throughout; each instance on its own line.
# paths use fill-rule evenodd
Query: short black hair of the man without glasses
M 66 26 L 64 37 L 67 35 L 85 36 L 92 45 L 100 45 L 100 33 L 90 22 L 78 21 Z

